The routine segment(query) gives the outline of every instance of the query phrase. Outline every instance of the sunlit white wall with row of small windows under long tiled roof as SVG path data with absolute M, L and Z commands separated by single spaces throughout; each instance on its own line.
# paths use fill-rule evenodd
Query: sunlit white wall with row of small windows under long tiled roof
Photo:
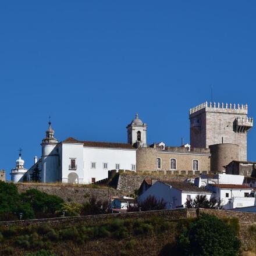
M 131 170 L 131 164 L 136 165 L 136 150 L 119 148 L 83 148 L 84 182 L 91 183 L 94 177 L 96 181 L 108 177 L 108 170 L 116 169 L 116 163 L 120 169 Z M 91 168 L 91 162 L 96 163 L 96 168 Z M 108 163 L 108 168 L 103 168 L 103 163 Z

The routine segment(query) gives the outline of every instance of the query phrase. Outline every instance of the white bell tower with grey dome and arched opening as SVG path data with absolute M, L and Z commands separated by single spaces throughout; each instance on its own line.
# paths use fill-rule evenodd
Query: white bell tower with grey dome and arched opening
M 137 148 L 147 147 L 147 124 L 138 118 L 138 113 L 136 113 L 135 119 L 127 125 L 126 129 L 127 143 Z

